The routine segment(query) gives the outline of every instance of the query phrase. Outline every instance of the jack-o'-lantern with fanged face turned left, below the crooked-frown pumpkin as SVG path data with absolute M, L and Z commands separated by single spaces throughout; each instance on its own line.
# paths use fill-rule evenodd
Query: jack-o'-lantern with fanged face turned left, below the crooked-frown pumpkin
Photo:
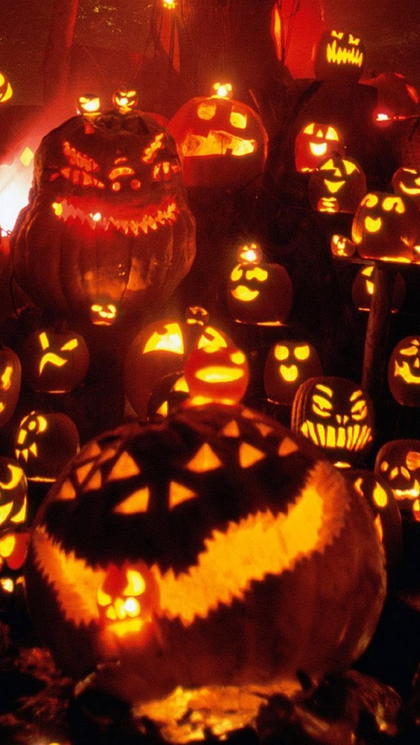
M 79 449 L 76 425 L 66 414 L 34 410 L 19 424 L 15 456 L 28 481 L 55 481 Z

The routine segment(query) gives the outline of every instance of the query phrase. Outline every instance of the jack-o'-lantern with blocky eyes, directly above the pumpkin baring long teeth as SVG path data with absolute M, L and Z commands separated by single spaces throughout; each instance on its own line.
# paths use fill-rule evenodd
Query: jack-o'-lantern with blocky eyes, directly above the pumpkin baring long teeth
M 292 405 L 296 390 L 307 378 L 322 375 L 318 352 L 308 341 L 277 341 L 268 352 L 264 365 L 267 399 Z

